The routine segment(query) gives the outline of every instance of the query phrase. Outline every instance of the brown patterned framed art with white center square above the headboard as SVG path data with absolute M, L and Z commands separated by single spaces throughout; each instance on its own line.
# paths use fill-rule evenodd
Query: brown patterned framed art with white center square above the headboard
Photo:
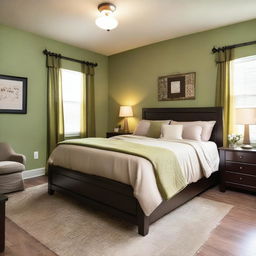
M 158 100 L 195 99 L 196 73 L 161 76 L 158 78 Z

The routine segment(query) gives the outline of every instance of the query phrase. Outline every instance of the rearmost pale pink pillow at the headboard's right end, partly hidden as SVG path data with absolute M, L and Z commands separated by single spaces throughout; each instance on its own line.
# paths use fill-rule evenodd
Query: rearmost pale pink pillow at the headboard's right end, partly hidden
M 194 122 L 176 122 L 172 121 L 171 124 L 182 124 L 183 127 L 186 126 L 201 126 L 202 127 L 202 134 L 201 140 L 208 141 L 212 135 L 212 129 L 215 125 L 216 121 L 194 121 Z

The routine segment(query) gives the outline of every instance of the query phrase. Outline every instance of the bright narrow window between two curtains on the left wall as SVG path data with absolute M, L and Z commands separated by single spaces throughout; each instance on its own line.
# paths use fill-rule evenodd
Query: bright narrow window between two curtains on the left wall
M 65 137 L 80 135 L 83 74 L 61 69 Z

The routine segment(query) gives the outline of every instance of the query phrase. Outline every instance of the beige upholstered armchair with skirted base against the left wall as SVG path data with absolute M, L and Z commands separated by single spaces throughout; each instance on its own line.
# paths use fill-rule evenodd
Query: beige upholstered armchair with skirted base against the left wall
M 24 190 L 22 171 L 26 158 L 7 143 L 0 143 L 0 194 Z

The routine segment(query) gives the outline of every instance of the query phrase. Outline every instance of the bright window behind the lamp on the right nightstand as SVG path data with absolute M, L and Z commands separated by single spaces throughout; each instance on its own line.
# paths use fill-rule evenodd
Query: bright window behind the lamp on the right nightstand
M 256 56 L 232 62 L 235 108 L 256 108 Z M 237 125 L 243 134 L 243 125 Z M 250 125 L 250 140 L 256 142 L 256 125 Z

